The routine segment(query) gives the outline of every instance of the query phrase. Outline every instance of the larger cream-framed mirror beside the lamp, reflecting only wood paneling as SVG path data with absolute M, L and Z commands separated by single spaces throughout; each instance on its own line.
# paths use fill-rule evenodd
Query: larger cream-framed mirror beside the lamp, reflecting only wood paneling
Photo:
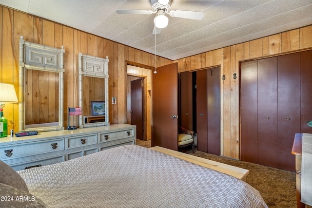
M 19 131 L 64 129 L 64 52 L 20 37 Z

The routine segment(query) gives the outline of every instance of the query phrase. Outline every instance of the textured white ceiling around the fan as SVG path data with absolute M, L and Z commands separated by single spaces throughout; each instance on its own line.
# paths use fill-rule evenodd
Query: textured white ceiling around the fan
M 150 0 L 0 0 L 0 4 L 155 53 Z M 312 24 L 312 0 L 172 0 L 171 9 L 205 12 L 202 20 L 169 18 L 156 55 L 176 60 Z

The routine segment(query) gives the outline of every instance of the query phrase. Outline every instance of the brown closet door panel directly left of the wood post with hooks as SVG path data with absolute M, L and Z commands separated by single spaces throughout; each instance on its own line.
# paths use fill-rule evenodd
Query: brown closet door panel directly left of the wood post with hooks
M 220 155 L 220 67 L 207 72 L 207 152 Z

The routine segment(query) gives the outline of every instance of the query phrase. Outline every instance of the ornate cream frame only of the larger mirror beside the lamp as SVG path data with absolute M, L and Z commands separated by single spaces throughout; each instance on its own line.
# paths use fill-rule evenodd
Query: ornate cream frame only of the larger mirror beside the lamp
M 20 37 L 19 64 L 19 131 L 58 131 L 64 130 L 63 125 L 63 96 L 64 96 L 64 47 L 61 49 L 27 42 Z M 38 125 L 26 128 L 25 125 L 25 69 L 59 73 L 59 122 L 55 126 Z

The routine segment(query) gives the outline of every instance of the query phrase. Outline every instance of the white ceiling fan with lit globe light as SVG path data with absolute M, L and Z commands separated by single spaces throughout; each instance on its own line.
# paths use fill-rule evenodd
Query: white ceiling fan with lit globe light
M 171 10 L 172 0 L 150 0 L 152 4 L 152 10 L 142 9 L 117 9 L 117 14 L 143 14 L 151 15 L 156 14 L 154 19 L 153 34 L 159 34 L 162 28 L 167 27 L 168 17 L 165 14 L 169 14 L 171 17 L 186 18 L 186 19 L 203 19 L 204 12 L 185 11 L 185 10 Z

